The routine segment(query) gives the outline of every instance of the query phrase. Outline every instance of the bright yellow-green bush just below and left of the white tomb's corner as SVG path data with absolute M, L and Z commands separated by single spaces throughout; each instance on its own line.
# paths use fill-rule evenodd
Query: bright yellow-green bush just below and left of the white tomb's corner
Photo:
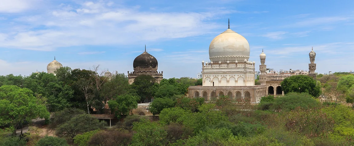
M 180 107 L 171 107 L 161 111 L 160 123 L 161 124 L 170 124 L 170 122 L 176 122 L 178 118 L 183 115 L 190 113 L 188 110 L 181 109 Z

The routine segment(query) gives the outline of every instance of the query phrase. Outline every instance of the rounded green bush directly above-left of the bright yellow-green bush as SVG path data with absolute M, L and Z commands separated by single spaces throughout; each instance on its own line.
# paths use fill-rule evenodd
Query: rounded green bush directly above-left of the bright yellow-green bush
M 153 115 L 158 115 L 160 112 L 169 107 L 175 106 L 175 101 L 169 98 L 156 98 L 154 101 L 150 104 L 149 110 Z

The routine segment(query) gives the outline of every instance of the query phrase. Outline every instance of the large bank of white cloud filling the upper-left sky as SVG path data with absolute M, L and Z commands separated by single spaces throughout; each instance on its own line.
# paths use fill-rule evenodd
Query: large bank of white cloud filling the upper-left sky
M 112 4 L 85 2 L 78 8 L 62 4 L 59 9 L 41 15 L 16 18 L 12 27 L 24 28 L 21 31 L 9 28 L 6 41 L 0 39 L 0 47 L 52 51 L 67 46 L 127 45 L 199 36 L 217 27 L 205 21 L 229 13 L 217 10 L 155 13 L 108 5 Z

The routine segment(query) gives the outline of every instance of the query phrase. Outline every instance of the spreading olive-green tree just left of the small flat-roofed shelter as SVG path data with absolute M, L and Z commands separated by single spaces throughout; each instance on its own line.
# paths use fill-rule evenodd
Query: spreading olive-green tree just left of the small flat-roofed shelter
M 107 123 L 99 122 L 89 114 L 77 115 L 56 128 L 55 133 L 59 137 L 73 139 L 77 134 L 102 129 Z

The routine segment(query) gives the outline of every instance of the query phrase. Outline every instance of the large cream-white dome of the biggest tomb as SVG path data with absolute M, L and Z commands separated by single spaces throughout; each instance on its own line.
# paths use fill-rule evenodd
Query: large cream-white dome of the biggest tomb
M 250 45 L 245 37 L 227 29 L 211 41 L 209 58 L 213 62 L 248 60 L 250 58 Z

